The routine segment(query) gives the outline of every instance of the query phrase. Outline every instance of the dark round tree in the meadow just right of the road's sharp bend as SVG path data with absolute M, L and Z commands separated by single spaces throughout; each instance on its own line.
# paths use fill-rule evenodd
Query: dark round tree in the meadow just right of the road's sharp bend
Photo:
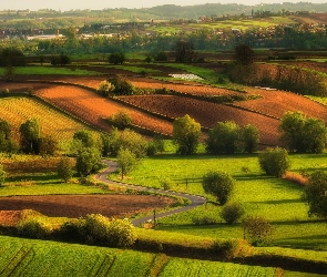
M 208 172 L 202 181 L 204 192 L 216 196 L 221 205 L 225 205 L 231 198 L 234 184 L 234 178 L 224 172 Z

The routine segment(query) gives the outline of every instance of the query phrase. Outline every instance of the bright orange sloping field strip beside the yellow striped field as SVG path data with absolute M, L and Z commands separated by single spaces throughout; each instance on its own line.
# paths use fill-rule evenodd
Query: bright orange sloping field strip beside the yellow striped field
M 38 91 L 38 95 L 54 105 L 83 119 L 84 121 L 109 131 L 109 125 L 103 119 L 112 116 L 120 110 L 126 110 L 122 104 L 104 99 L 93 92 L 68 85 L 58 85 Z M 162 134 L 172 133 L 172 124 L 139 111 L 129 109 L 132 123 L 154 130 Z

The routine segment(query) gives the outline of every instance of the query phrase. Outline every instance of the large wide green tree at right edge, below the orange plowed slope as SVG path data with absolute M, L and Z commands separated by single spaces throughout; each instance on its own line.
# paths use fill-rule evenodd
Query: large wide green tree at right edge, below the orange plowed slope
M 302 112 L 287 112 L 282 117 L 279 131 L 292 152 L 321 153 L 325 148 L 327 129 L 321 120 L 307 117 Z

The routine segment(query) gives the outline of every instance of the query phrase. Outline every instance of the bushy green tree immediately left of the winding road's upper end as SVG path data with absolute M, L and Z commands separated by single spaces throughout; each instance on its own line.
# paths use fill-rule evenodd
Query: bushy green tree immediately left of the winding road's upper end
M 93 172 L 96 172 L 101 167 L 100 151 L 95 147 L 84 147 L 79 151 L 76 157 L 76 171 L 84 177 Z

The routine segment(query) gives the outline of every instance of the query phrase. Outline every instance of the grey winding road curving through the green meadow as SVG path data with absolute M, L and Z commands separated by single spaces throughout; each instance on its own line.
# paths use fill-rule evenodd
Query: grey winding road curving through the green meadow
M 191 202 L 191 204 L 187 205 L 187 206 L 183 206 L 183 207 L 175 208 L 175 209 L 172 209 L 172 211 L 168 211 L 168 212 L 156 214 L 155 215 L 156 218 L 161 218 L 161 217 L 164 217 L 164 216 L 183 213 L 183 212 L 188 211 L 191 208 L 195 208 L 197 206 L 201 206 L 206 202 L 206 199 L 204 197 L 197 196 L 197 195 L 191 195 L 191 194 L 185 194 L 185 193 L 176 193 L 176 192 L 170 192 L 170 191 L 164 191 L 164 189 L 136 186 L 136 185 L 129 185 L 129 184 L 124 184 L 124 183 L 108 179 L 106 176 L 110 173 L 116 172 L 119 170 L 119 165 L 117 165 L 117 163 L 115 163 L 113 161 L 102 160 L 102 162 L 106 165 L 106 168 L 104 171 L 98 173 L 94 177 L 96 179 L 103 182 L 103 183 L 115 184 L 115 185 L 120 185 L 120 186 L 136 189 L 136 191 L 153 192 L 153 193 L 160 193 L 160 194 L 163 194 L 163 195 L 180 196 L 180 197 L 187 198 Z M 145 222 L 147 222 L 150 219 L 153 219 L 153 215 L 144 216 L 144 217 L 134 219 L 134 220 L 132 220 L 132 224 L 134 226 L 139 226 L 139 225 L 141 225 L 141 224 L 143 224 L 143 223 L 145 223 Z

